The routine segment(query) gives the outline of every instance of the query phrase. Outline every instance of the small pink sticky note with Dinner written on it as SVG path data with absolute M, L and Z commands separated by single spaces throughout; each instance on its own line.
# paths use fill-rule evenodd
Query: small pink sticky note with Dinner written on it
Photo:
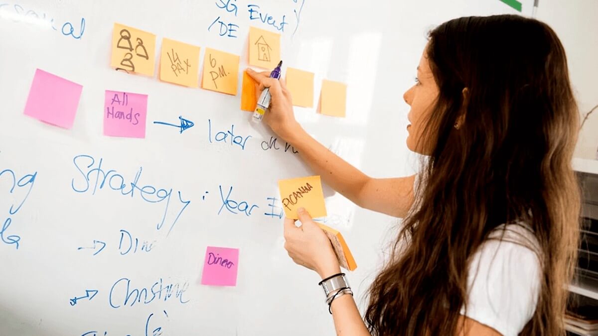
M 236 286 L 239 249 L 208 246 L 203 262 L 202 285 Z

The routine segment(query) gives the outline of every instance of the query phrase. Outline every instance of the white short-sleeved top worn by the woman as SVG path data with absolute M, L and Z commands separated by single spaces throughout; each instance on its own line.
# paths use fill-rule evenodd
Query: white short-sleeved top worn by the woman
M 414 188 L 422 182 L 416 175 Z M 526 224 L 495 228 L 469 259 L 467 302 L 460 314 L 504 336 L 519 334 L 538 303 L 542 273 L 534 251 L 540 251 L 538 240 Z

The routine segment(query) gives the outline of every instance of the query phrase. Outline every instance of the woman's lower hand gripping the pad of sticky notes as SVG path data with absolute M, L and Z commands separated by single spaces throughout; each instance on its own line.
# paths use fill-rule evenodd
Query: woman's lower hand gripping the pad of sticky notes
M 285 249 L 296 264 L 318 272 L 322 279 L 340 273 L 337 257 L 324 230 L 303 208 L 298 210 L 301 226 L 285 218 Z

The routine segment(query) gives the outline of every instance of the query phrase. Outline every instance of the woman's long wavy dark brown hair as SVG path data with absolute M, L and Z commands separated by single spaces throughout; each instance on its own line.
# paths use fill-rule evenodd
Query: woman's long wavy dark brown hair
M 541 288 L 521 335 L 563 335 L 580 206 L 565 50 L 545 23 L 501 15 L 443 23 L 427 54 L 440 88 L 426 123 L 433 150 L 420 172 L 425 187 L 370 288 L 370 331 L 454 334 L 468 258 L 490 231 L 523 221 L 539 243 Z

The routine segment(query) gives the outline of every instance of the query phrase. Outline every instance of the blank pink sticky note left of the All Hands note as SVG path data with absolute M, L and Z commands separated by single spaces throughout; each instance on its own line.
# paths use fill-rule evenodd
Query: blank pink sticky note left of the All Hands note
M 25 104 L 25 114 L 70 129 L 83 86 L 37 69 Z

